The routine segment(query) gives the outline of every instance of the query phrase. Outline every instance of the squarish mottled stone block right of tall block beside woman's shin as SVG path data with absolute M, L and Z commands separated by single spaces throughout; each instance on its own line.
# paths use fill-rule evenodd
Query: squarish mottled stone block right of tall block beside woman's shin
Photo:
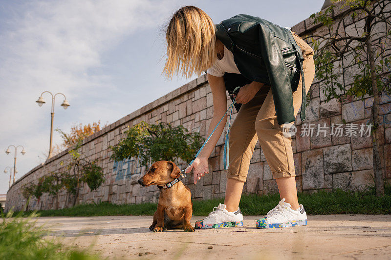
M 325 174 L 351 171 L 349 144 L 327 147 L 323 150 Z

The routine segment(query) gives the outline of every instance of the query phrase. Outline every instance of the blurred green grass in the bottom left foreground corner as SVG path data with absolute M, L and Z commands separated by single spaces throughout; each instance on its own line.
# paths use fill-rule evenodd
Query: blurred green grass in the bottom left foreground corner
M 90 255 L 86 250 L 65 247 L 62 243 L 45 238 L 49 235 L 42 226 L 35 225 L 32 219 L 37 215 L 30 213 L 27 218 L 22 214 L 14 218 L 3 215 L 0 222 L 0 259 L 28 260 L 97 260 L 98 255 Z

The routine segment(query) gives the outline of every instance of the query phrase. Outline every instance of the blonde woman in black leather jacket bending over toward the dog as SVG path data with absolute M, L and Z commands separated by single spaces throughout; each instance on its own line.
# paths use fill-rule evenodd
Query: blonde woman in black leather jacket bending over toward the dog
M 277 182 L 281 201 L 256 226 L 306 225 L 306 213 L 297 198 L 291 137 L 282 131 L 286 123 L 295 121 L 300 108 L 301 119 L 305 119 L 305 94 L 315 74 L 311 47 L 289 29 L 259 17 L 237 15 L 214 24 L 195 6 L 184 6 L 174 13 L 166 40 L 163 72 L 168 78 L 174 73 L 188 77 L 207 72 L 214 109 L 208 134 L 227 111 L 226 91 L 241 86 L 236 96 L 239 112 L 229 134 L 224 204 L 215 207 L 205 219 L 196 221 L 195 227 L 243 224 L 239 201 L 258 140 Z M 194 183 L 209 173 L 208 158 L 226 120 L 225 116 L 188 170 L 194 171 Z

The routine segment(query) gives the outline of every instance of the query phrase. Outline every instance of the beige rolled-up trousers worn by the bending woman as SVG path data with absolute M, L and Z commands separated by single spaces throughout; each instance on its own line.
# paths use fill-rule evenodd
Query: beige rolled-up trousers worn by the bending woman
M 305 90 L 308 92 L 315 76 L 313 49 L 297 34 L 293 37 L 302 49 Z M 302 79 L 296 91 L 292 92 L 294 113 L 297 115 L 302 104 Z M 246 181 L 254 147 L 260 140 L 263 154 L 269 163 L 273 178 L 295 175 L 292 139 L 284 137 L 277 122 L 276 110 L 270 86 L 262 86 L 256 96 L 242 104 L 229 133 L 230 160 L 227 178 Z

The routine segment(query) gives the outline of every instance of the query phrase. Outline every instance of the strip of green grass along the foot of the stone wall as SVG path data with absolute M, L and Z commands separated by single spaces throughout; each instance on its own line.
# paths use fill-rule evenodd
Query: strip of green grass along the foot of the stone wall
M 243 195 L 240 209 L 244 215 L 265 215 L 274 208 L 280 197 L 274 195 Z M 391 187 L 386 187 L 386 194 L 377 198 L 373 188 L 360 192 L 320 191 L 312 194 L 300 193 L 299 201 L 309 215 L 324 214 L 391 214 Z M 223 199 L 193 200 L 193 215 L 207 216 Z M 153 215 L 155 203 L 142 204 L 82 204 L 72 208 L 38 211 L 42 217 L 54 216 L 130 216 Z M 29 214 L 26 212 L 24 214 Z

